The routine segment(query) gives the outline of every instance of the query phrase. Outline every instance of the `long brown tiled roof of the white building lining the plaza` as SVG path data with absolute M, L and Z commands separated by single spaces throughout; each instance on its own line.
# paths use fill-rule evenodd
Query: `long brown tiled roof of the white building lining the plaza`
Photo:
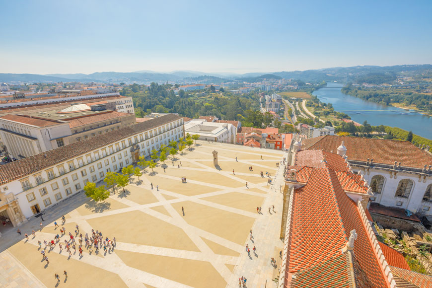
M 181 117 L 175 114 L 160 116 L 143 123 L 0 165 L 0 185 L 178 119 Z

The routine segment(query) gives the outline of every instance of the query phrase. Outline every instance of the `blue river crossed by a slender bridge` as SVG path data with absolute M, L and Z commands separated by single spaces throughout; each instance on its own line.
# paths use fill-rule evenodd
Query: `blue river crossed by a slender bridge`
M 382 105 L 374 102 L 346 95 L 341 92 L 343 85 L 339 83 L 327 83 L 327 87 L 315 90 L 312 95 L 318 97 L 321 102 L 332 103 L 335 111 L 344 112 L 350 115 L 351 119 L 362 124 L 367 120 L 372 126 L 385 125 L 399 127 L 401 129 L 412 131 L 419 136 L 432 139 L 432 117 L 417 112 L 409 114 L 398 114 L 391 111 L 376 110 L 397 110 L 407 112 L 401 108 Z M 361 112 L 346 112 L 352 110 L 373 110 Z M 412 111 L 412 110 L 410 110 Z

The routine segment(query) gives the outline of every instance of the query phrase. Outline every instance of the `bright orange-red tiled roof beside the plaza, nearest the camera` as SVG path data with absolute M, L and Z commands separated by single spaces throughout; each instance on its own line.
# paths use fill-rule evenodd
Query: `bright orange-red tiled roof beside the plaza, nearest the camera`
M 332 169 L 343 166 L 344 159 L 329 153 L 326 154 L 327 162 L 322 162 L 318 161 L 319 153 L 308 151 L 297 155 L 297 162 L 307 164 L 309 161 L 315 167 L 299 167 L 297 174 L 304 170 L 303 174 L 307 172 L 309 177 L 306 185 L 291 194 L 290 248 L 286 269 L 295 274 L 291 287 L 351 287 L 352 281 L 361 288 L 389 287 L 360 210 L 347 196 L 337 172 Z M 356 229 L 358 237 L 354 244 L 354 263 L 351 264 L 341 249 L 353 229 Z M 351 278 L 351 265 L 354 266 L 354 279 Z

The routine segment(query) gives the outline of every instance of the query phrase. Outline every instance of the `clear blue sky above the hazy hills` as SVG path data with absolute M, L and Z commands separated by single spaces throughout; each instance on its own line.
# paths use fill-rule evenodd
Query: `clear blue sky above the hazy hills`
M 0 0 L 0 72 L 432 64 L 432 1 Z

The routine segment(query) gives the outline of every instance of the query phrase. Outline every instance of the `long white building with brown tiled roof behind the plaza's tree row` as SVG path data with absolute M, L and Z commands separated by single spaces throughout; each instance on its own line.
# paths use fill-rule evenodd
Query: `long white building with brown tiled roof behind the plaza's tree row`
M 111 131 L 0 166 L 0 216 L 19 226 L 27 218 L 184 137 L 174 114 Z

